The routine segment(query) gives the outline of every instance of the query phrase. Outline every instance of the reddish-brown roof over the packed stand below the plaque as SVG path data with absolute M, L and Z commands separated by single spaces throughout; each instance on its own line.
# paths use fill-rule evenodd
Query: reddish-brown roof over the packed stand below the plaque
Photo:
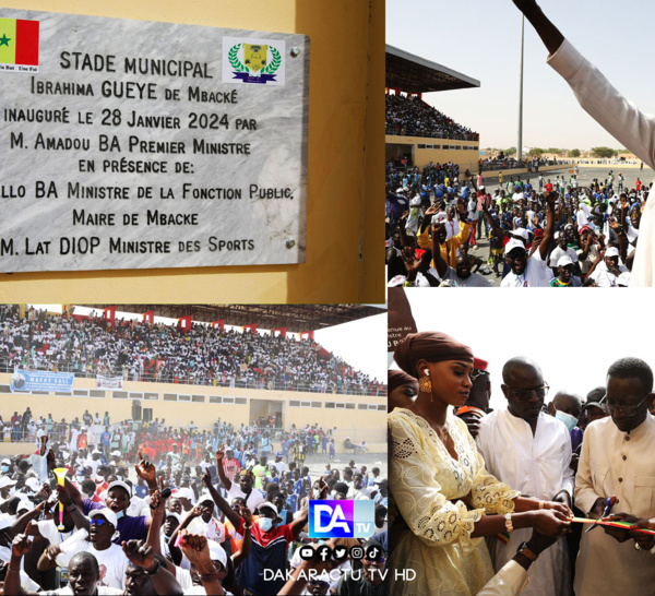
M 257 323 L 260 329 L 286 327 L 291 333 L 318 331 L 365 317 L 386 312 L 372 305 L 84 305 L 94 309 L 116 306 L 121 312 L 155 311 L 155 317 L 179 319 L 188 314 L 194 321 L 211 323 L 223 319 L 226 325 Z

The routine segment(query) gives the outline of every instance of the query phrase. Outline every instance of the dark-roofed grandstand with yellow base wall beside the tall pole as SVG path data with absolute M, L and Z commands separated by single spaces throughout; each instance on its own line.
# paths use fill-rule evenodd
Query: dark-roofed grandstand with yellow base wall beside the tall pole
M 452 163 L 477 169 L 479 135 L 424 102 L 426 93 L 479 87 L 479 81 L 386 46 L 386 163 Z

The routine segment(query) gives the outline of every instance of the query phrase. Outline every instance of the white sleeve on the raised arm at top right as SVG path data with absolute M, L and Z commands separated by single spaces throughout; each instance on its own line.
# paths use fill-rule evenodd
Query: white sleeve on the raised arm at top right
M 569 83 L 582 108 L 615 139 L 655 169 L 655 117 L 642 114 L 567 39 L 548 63 Z

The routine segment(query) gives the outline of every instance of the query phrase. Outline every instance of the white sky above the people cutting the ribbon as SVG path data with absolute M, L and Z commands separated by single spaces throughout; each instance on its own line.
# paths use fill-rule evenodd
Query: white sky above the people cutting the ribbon
M 629 290 L 631 303 L 651 303 L 652 291 L 643 289 L 646 291 Z M 418 331 L 448 333 L 489 362 L 495 409 L 507 408 L 500 389 L 501 371 L 504 362 L 515 356 L 532 358 L 541 368 L 550 385 L 545 403 L 562 390 L 585 397 L 592 389 L 605 384 L 607 369 L 619 358 L 641 358 L 655 370 L 654 318 L 643 317 L 643 310 L 638 309 L 634 317 L 639 325 L 628 322 L 632 315 L 624 324 L 617 324 L 617 315 L 624 311 L 610 307 L 619 303 L 612 288 L 594 290 L 592 302 L 584 299 L 586 291 L 582 288 L 570 293 L 550 288 L 527 293 L 469 289 L 464 302 L 457 290 L 405 291 Z M 393 368 L 397 368 L 395 363 Z

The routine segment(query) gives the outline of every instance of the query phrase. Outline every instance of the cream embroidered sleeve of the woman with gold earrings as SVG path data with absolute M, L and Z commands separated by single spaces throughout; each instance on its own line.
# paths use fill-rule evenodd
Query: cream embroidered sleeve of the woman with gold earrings
M 408 417 L 395 414 L 389 417 L 390 486 L 405 523 L 429 546 L 460 543 L 468 552 L 474 524 L 484 512 L 468 511 L 464 501 L 452 503 L 445 498 L 434 473 L 439 462 L 434 462 L 434 451 L 426 444 L 428 437 Z

